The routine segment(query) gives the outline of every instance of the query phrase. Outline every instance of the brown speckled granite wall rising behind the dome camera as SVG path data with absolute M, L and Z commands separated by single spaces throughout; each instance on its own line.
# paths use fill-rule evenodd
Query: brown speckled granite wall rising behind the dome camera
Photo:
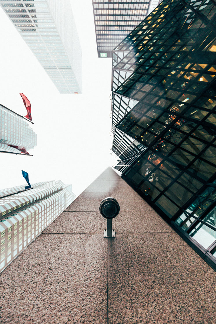
M 116 237 L 99 204 L 118 199 Z M 0 323 L 213 324 L 216 272 L 111 168 L 0 275 Z

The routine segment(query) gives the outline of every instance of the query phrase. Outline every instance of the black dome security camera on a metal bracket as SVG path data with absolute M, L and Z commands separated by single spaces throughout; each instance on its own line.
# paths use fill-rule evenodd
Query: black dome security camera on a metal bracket
M 115 231 L 112 230 L 112 218 L 119 214 L 119 203 L 115 198 L 107 197 L 100 203 L 100 214 L 107 218 L 107 230 L 104 231 L 104 237 L 115 237 Z

